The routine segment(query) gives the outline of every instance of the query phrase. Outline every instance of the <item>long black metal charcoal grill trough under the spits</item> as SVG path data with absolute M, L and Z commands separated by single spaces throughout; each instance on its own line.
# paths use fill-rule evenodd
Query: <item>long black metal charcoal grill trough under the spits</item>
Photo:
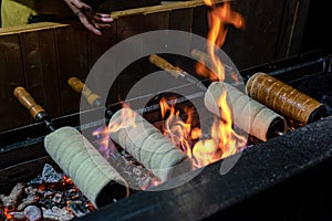
M 79 220 L 331 219 L 331 54 L 317 51 L 240 72 L 245 82 L 256 72 L 266 72 L 289 83 L 322 102 L 328 117 L 252 145 L 226 175 L 220 175 L 218 161 L 177 188 L 139 191 Z M 89 135 L 105 124 L 105 119 L 94 118 L 98 116 L 94 113 L 101 110 L 104 109 L 81 113 L 92 119 L 85 125 L 80 125 L 79 113 L 53 122 L 58 127 L 74 126 Z M 37 123 L 0 134 L 2 193 L 34 177 L 45 162 L 56 167 L 43 148 L 48 133 L 44 123 Z M 170 179 L 164 185 L 173 182 Z

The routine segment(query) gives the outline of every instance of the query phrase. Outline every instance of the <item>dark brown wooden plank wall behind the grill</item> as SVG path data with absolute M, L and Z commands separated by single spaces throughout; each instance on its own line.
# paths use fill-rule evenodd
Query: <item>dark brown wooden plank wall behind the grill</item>
M 289 46 L 289 42 L 295 44 L 290 41 L 293 33 L 290 27 L 297 15 L 293 8 L 299 7 L 298 1 L 246 0 L 232 3 L 247 21 L 245 31 L 230 29 L 224 46 L 238 69 L 286 56 L 289 50 L 284 48 Z M 0 131 L 33 123 L 12 95 L 15 86 L 24 86 L 52 117 L 79 112 L 80 95 L 69 87 L 70 76 L 75 75 L 84 81 L 107 49 L 138 33 L 173 29 L 206 36 L 207 11 L 207 7 L 196 6 L 126 14 L 116 18 L 113 28 L 103 36 L 90 33 L 77 22 L 0 29 Z M 301 38 L 301 30 L 295 33 L 295 38 Z M 292 45 L 291 49 L 295 48 Z M 124 72 L 126 74 L 118 77 L 112 87 L 108 102 L 115 102 L 118 95 L 125 96 L 134 82 L 148 70 L 134 65 Z

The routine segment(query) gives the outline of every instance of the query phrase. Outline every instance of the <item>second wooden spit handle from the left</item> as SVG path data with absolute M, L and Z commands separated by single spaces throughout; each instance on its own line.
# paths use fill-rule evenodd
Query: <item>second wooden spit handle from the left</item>
M 101 99 L 101 96 L 93 93 L 81 80 L 72 76 L 68 80 L 68 84 L 79 94 L 82 94 L 91 106 L 95 106 L 96 101 Z

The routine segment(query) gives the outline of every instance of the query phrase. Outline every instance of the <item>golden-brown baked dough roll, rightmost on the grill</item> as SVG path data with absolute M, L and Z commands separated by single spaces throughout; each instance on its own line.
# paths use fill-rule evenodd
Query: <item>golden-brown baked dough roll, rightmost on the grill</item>
M 302 124 L 326 116 L 323 104 L 266 73 L 253 74 L 246 91 L 250 97 Z

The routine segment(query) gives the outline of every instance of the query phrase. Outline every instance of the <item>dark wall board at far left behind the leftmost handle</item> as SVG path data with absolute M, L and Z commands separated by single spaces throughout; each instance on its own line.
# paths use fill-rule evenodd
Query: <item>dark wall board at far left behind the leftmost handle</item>
M 29 124 L 29 114 L 12 92 L 25 86 L 19 34 L 0 36 L 0 131 Z

